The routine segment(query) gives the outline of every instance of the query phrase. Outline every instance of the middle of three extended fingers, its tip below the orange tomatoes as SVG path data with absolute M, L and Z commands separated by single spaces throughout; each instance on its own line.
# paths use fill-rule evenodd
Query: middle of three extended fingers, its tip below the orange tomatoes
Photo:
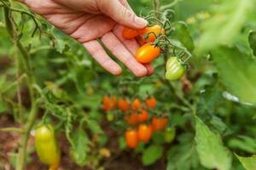
M 124 65 L 126 65 L 137 77 L 144 77 L 148 74 L 147 68 L 138 63 L 128 49 L 114 36 L 113 32 L 108 32 L 102 37 L 102 42 Z

